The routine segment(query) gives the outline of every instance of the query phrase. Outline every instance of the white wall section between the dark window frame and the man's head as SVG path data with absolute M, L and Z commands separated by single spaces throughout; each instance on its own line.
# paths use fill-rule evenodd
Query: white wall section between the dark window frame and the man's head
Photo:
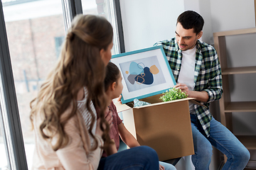
M 126 52 L 173 38 L 176 18 L 184 11 L 183 0 L 120 0 L 120 6 Z

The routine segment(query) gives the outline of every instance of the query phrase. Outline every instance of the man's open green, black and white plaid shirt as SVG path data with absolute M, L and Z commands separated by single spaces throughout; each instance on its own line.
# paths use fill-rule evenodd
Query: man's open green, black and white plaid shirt
M 156 42 L 154 46 L 162 45 L 169 61 L 174 78 L 178 80 L 178 74 L 181 69 L 182 52 L 178 48 L 176 38 Z M 208 102 L 203 103 L 204 106 L 194 105 L 198 120 L 206 132 L 210 134 L 210 120 L 212 115 L 209 111 L 210 102 L 219 100 L 223 94 L 222 77 L 220 70 L 220 62 L 214 47 L 208 45 L 201 40 L 196 43 L 196 64 L 194 74 L 194 91 L 206 91 L 208 93 Z

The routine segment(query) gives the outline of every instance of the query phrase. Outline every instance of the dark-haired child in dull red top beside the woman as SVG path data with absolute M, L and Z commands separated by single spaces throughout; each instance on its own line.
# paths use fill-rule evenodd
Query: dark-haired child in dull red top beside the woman
M 103 152 L 102 157 L 107 157 L 108 155 L 117 153 L 119 149 L 119 136 L 121 137 L 122 141 L 130 148 L 132 147 L 139 147 L 139 142 L 134 138 L 134 136 L 124 127 L 124 123 L 119 118 L 117 114 L 117 109 L 114 106 L 112 99 L 117 98 L 122 94 L 122 76 L 121 72 L 119 71 L 118 67 L 109 62 L 107 64 L 106 70 L 106 77 L 105 77 L 105 91 L 110 100 L 110 111 L 112 111 L 112 125 L 110 127 L 110 138 L 114 141 L 114 145 L 110 145 L 110 148 Z M 176 169 L 172 164 L 168 164 L 165 162 L 159 162 L 160 170 L 174 170 Z

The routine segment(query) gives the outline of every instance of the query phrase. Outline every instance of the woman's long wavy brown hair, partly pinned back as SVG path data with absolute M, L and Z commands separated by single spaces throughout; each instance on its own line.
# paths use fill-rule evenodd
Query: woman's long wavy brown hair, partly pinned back
M 92 134 L 95 115 L 90 108 L 91 101 L 94 101 L 95 108 L 100 108 L 98 116 L 101 118 L 102 139 L 105 141 L 105 147 L 109 145 L 109 125 L 104 114 L 107 107 L 103 83 L 105 64 L 102 62 L 100 50 L 107 50 L 112 37 L 112 26 L 103 17 L 80 14 L 73 19 L 63 42 L 58 64 L 41 86 L 38 96 L 31 101 L 32 125 L 36 114 L 43 118 L 40 127 L 34 128 L 40 128 L 41 136 L 45 140 L 52 140 L 55 135 L 58 136 L 58 141 L 51 146 L 53 150 L 68 145 L 69 139 L 64 131 L 65 123 L 78 114 L 78 91 L 84 86 L 88 89 L 86 107 L 92 116 L 88 131 L 96 144 L 92 149 L 96 149 L 98 144 Z M 60 116 L 68 107 L 71 107 L 72 111 L 67 118 L 60 120 Z

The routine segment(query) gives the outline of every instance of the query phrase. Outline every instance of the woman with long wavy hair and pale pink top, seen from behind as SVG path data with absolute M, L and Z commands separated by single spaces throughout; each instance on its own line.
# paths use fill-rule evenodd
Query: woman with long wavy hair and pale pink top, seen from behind
M 73 19 L 58 64 L 31 101 L 36 138 L 33 169 L 97 169 L 102 149 L 111 143 L 108 131 L 112 116 L 105 118 L 103 82 L 112 36 L 112 26 L 105 18 L 78 15 Z M 100 110 L 98 115 L 95 108 Z M 113 157 L 102 162 L 100 169 L 159 166 L 156 152 L 149 147 L 124 153 L 127 159 L 134 154 L 137 162 L 116 163 Z M 144 154 L 150 157 L 140 160 L 139 155 Z

